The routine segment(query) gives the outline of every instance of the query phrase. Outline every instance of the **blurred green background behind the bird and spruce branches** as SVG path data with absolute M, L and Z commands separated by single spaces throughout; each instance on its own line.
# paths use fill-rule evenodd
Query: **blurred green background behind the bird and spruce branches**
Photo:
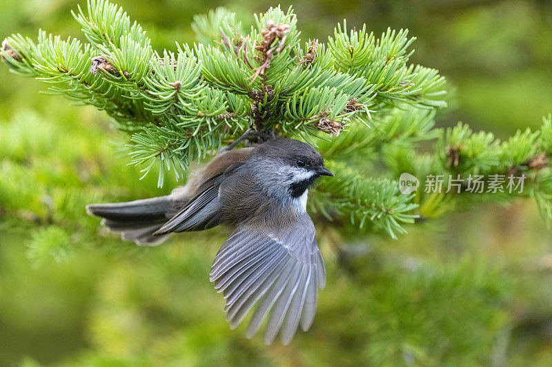
M 3 0 L 0 36 L 38 28 L 83 38 L 82 2 Z M 193 14 L 226 6 L 245 22 L 266 0 L 119 1 L 157 49 L 193 41 Z M 288 1 L 282 2 L 287 8 Z M 506 137 L 552 112 L 551 1 L 293 2 L 302 39 L 335 25 L 408 28 L 412 61 L 441 70 L 462 120 Z M 121 242 L 90 202 L 166 193 L 139 181 L 106 115 L 0 67 L 0 366 L 551 366 L 552 231 L 530 202 L 477 207 L 393 241 L 319 229 L 328 285 L 315 324 L 288 347 L 230 331 L 208 281 L 228 233 L 157 248 Z

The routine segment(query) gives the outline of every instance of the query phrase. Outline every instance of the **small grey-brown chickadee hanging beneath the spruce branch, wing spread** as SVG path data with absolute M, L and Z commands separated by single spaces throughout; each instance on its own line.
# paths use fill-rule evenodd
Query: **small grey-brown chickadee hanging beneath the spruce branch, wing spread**
M 317 288 L 326 284 L 315 226 L 306 212 L 308 188 L 333 176 L 319 152 L 298 140 L 276 138 L 226 151 L 168 196 L 86 207 L 123 240 L 155 246 L 173 232 L 233 228 L 210 271 L 236 328 L 255 306 L 247 337 L 264 319 L 265 342 L 277 333 L 289 344 L 299 324 L 313 323 Z

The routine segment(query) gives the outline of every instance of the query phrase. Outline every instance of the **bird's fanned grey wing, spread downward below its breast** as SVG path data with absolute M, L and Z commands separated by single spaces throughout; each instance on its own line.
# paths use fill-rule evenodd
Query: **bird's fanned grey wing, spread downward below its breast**
M 247 337 L 253 337 L 268 316 L 266 344 L 278 331 L 288 344 L 299 324 L 303 331 L 311 327 L 317 288 L 326 284 L 313 221 L 304 213 L 290 227 L 268 232 L 241 224 L 217 253 L 210 280 L 226 298 L 231 328 L 257 304 Z

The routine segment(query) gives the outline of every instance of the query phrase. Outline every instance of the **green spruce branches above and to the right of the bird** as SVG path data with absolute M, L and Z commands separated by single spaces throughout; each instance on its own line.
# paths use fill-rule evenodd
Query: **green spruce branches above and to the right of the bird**
M 535 198 L 552 219 L 551 118 L 540 131 L 504 142 L 463 124 L 435 128 L 445 81 L 437 70 L 408 63 L 415 39 L 407 30 L 377 38 L 366 25 L 348 29 L 344 21 L 326 43 L 301 41 L 291 8 L 270 8 L 248 30 L 218 8 L 195 17 L 198 43 L 155 50 L 141 25 L 113 3 L 89 0 L 73 16 L 87 43 L 42 30 L 36 41 L 13 34 L 2 43 L 3 61 L 55 94 L 106 111 L 128 132 L 132 164 L 144 176 L 159 167 L 159 186 L 166 171 L 180 178 L 190 161 L 253 129 L 309 140 L 324 154 L 336 177 L 310 200 L 320 220 L 348 217 L 355 228 L 395 238 L 417 218 L 517 196 Z M 402 172 L 421 180 L 527 180 L 516 194 L 474 195 L 462 187 L 405 195 L 396 180 Z

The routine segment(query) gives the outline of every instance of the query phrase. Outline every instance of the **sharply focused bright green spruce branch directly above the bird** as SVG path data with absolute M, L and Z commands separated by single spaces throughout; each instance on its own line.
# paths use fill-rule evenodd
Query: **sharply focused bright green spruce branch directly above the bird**
M 152 50 L 141 26 L 115 4 L 90 0 L 88 11 L 79 8 L 73 15 L 89 43 L 41 32 L 35 44 L 13 35 L 2 55 L 13 70 L 52 83 L 52 92 L 113 116 L 119 128 L 133 134 L 132 163 L 146 165 L 146 173 L 159 165 L 179 177 L 190 160 L 216 151 L 222 139 L 250 123 L 257 129 L 279 125 L 284 132 L 311 132 L 337 123 L 339 130 L 357 116 L 369 118 L 370 103 L 427 105 L 426 96 L 437 87 L 436 74 L 406 65 L 413 40 L 403 31 L 389 30 L 377 41 L 370 36 L 358 57 L 333 39 L 329 52 L 315 42 L 311 60 L 302 62 L 306 53 L 299 48 L 291 8 L 270 8 L 256 16 L 249 33 L 224 9 L 195 17 L 198 39 L 215 37 L 215 43 L 199 43 L 193 51 L 179 46 L 176 54 L 164 50 L 162 56 Z M 356 45 L 349 37 L 367 36 L 365 28 L 348 36 L 339 26 L 335 37 Z M 349 57 L 354 67 L 342 65 Z M 440 90 L 443 81 L 438 78 Z M 348 109 L 353 98 L 358 104 Z M 160 172 L 159 185 L 164 169 Z

